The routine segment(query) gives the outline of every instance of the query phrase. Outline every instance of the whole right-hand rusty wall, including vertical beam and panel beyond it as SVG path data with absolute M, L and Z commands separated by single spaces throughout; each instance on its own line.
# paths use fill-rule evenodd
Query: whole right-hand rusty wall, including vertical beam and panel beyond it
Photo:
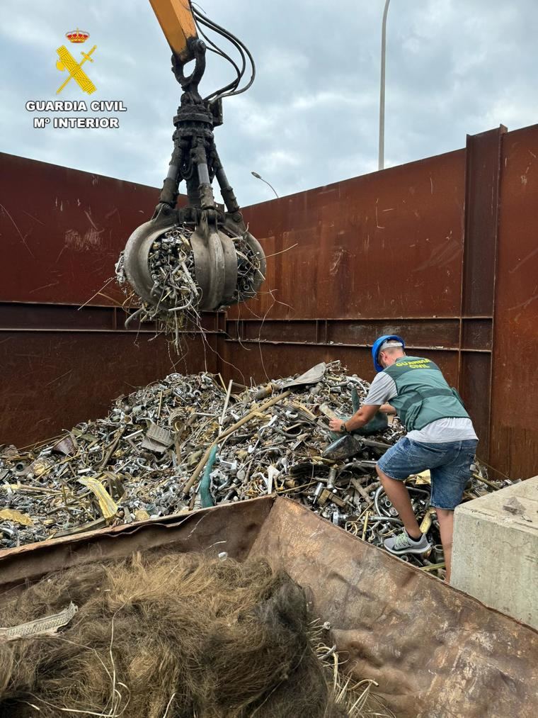
M 341 358 L 371 379 L 369 346 L 395 332 L 459 388 L 481 459 L 534 475 L 537 157 L 537 126 L 500 126 L 461 151 L 249 208 L 275 256 L 269 292 L 228 314 L 235 376 Z

